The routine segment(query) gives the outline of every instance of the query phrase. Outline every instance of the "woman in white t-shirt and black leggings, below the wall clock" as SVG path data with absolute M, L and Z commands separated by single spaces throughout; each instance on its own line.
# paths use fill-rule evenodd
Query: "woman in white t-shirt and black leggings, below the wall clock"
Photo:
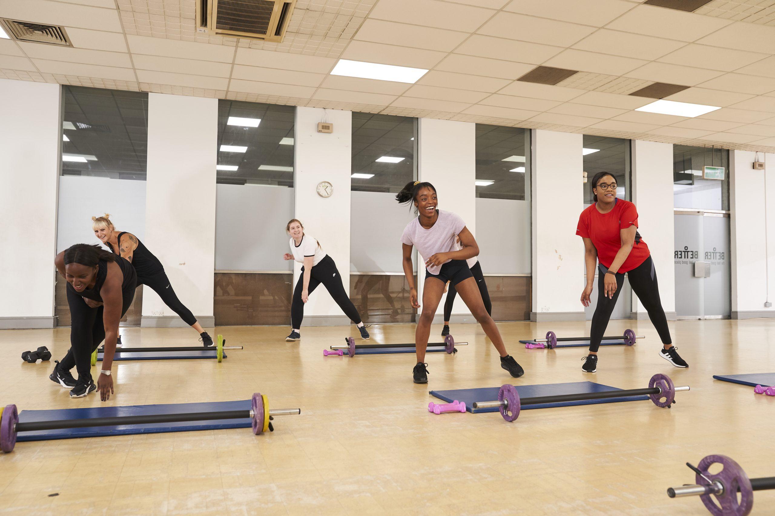
M 298 219 L 288 222 L 288 225 L 285 226 L 285 232 L 291 235 L 291 241 L 288 244 L 291 246 L 292 254 L 285 253 L 283 258 L 303 264 L 301 276 L 296 283 L 291 302 L 291 334 L 285 337 L 285 340 L 301 339 L 300 329 L 301 320 L 304 319 L 304 303 L 321 283 L 345 315 L 350 317 L 353 323 L 356 323 L 360 331 L 360 338 L 369 340 L 369 333 L 363 326 L 363 321 L 360 320 L 358 310 L 345 292 L 342 275 L 336 269 L 336 264 L 332 258 L 323 252 L 315 238 L 304 234 L 304 226 Z

